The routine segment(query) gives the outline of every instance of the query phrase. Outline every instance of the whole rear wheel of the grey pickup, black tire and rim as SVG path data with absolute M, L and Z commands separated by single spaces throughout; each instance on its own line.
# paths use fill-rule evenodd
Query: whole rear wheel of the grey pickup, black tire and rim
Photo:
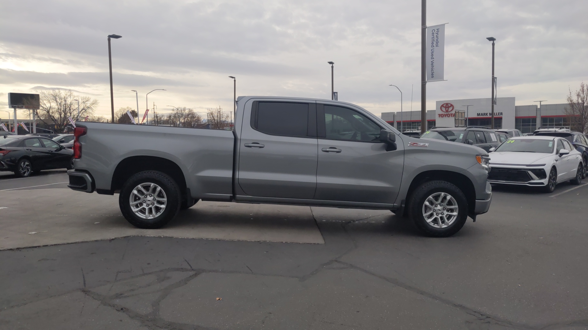
M 178 184 L 159 171 L 142 171 L 126 180 L 118 203 L 122 215 L 138 228 L 161 228 L 178 214 Z

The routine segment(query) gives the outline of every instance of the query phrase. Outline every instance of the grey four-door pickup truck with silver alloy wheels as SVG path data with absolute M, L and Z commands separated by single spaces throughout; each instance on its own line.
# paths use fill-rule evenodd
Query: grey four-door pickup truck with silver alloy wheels
M 234 130 L 76 125 L 68 187 L 118 193 L 139 228 L 203 200 L 390 210 L 446 237 L 492 200 L 486 151 L 404 136 L 345 102 L 241 96 Z

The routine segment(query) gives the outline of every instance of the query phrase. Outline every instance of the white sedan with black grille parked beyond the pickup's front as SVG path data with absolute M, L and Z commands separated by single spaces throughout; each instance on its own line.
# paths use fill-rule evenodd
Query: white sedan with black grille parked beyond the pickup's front
M 563 137 L 511 137 L 490 151 L 490 183 L 542 187 L 551 193 L 563 181 L 582 181 L 582 154 Z

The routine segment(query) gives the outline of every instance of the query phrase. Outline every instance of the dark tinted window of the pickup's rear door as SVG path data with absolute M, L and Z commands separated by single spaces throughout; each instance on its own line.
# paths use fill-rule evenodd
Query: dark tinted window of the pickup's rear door
M 306 137 L 308 104 L 289 102 L 259 102 L 252 126 L 259 132 Z

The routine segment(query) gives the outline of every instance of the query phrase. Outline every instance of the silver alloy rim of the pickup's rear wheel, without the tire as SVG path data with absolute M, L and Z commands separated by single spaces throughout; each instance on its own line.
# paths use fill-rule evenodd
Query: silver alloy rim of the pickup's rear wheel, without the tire
M 154 219 L 165 211 L 168 199 L 165 191 L 155 183 L 141 183 L 129 196 L 131 210 L 143 219 Z

